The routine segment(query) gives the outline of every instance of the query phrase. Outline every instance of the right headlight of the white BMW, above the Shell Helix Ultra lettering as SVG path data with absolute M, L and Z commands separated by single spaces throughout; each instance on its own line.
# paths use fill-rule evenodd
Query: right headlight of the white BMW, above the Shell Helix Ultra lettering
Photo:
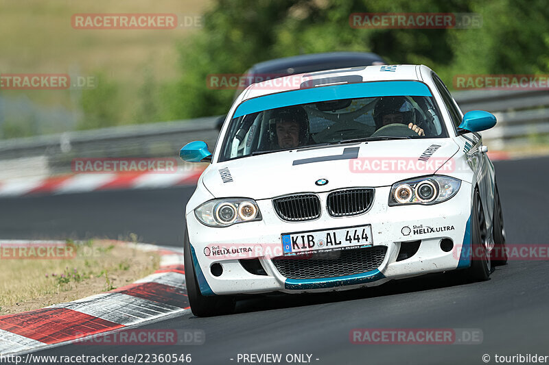
M 390 188 L 389 206 L 403 204 L 436 204 L 454 197 L 461 181 L 447 176 L 420 177 L 400 181 Z

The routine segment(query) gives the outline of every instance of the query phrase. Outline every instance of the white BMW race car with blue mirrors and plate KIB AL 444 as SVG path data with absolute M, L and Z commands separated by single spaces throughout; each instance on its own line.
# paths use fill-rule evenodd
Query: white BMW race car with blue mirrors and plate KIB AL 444
M 297 80 L 297 81 L 296 81 Z M 196 316 L 242 294 L 377 286 L 506 262 L 493 164 L 426 66 L 344 68 L 265 81 L 235 100 L 187 203 L 185 279 Z

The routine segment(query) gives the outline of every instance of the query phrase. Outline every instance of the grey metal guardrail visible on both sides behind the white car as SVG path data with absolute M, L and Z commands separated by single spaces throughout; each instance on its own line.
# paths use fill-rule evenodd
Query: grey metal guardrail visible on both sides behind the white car
M 453 95 L 464 113 L 487 110 L 498 118 L 493 129 L 482 133 L 491 149 L 505 149 L 549 134 L 546 90 L 470 90 Z M 213 147 L 218 137 L 218 117 L 0 140 L 0 179 L 67 173 L 73 158 L 176 156 L 180 147 L 191 140 L 205 140 Z M 12 163 L 19 159 L 34 163 Z

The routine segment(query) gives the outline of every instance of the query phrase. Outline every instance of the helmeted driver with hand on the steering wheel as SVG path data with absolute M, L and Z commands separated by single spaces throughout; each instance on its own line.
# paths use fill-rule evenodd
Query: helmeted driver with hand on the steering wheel
M 415 124 L 414 106 L 405 97 L 381 97 L 373 109 L 373 119 L 377 129 L 395 123 L 408 124 L 419 136 L 425 136 Z

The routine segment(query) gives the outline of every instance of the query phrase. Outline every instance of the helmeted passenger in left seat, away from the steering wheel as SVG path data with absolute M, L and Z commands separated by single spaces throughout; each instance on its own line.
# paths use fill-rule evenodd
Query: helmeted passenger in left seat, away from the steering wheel
M 292 106 L 274 110 L 271 119 L 274 119 L 274 130 L 281 149 L 291 149 L 307 144 L 309 117 L 303 107 Z

